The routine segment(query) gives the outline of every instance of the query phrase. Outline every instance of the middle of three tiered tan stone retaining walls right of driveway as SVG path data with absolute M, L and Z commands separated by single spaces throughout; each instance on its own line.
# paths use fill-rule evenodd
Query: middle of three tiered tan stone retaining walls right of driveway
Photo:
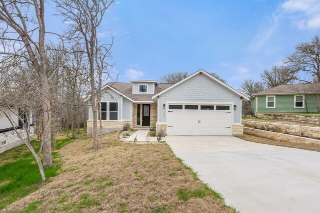
M 242 120 L 242 124 L 248 127 L 253 127 L 256 129 L 265 129 L 274 132 L 281 132 L 296 136 L 305 136 L 310 138 L 320 139 L 320 126 L 310 127 L 310 126 L 300 126 L 292 124 L 281 124 L 281 123 L 271 123 L 263 121 L 248 121 Z

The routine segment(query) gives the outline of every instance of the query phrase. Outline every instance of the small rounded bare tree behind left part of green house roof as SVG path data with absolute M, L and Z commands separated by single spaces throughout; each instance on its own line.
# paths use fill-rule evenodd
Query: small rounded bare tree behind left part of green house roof
M 271 70 L 263 70 L 261 80 L 266 88 L 272 88 L 281 84 L 293 83 L 296 74 L 292 74 L 285 67 L 272 66 Z

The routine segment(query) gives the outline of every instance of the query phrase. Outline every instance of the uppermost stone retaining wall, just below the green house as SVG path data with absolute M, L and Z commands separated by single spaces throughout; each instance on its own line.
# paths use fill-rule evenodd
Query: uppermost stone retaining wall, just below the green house
M 320 124 L 320 117 L 314 116 L 303 116 L 303 115 L 266 115 L 266 113 L 257 113 L 257 117 L 275 120 L 286 120 L 286 121 L 302 121 L 311 124 Z

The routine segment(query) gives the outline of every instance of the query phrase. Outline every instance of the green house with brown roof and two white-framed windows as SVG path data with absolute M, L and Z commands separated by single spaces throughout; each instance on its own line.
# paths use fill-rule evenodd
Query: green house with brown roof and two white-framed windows
M 316 113 L 320 104 L 320 83 L 282 84 L 251 97 L 255 115 Z

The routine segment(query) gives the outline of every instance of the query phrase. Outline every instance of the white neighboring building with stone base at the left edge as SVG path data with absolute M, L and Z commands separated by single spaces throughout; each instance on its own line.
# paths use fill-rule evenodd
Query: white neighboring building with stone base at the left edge
M 23 139 L 26 139 L 25 129 L 23 128 L 23 124 L 19 121 L 18 117 L 14 115 L 14 113 L 12 112 L 7 111 L 6 113 L 8 113 L 9 116 L 11 117 L 11 120 L 13 121 L 14 126 L 17 129 L 17 132 L 22 135 Z M 24 118 L 25 115 L 21 114 L 20 116 Z M 27 118 L 25 116 L 25 119 L 23 119 L 23 122 L 29 128 L 28 131 L 30 133 L 31 140 L 33 140 L 33 127 L 31 124 L 32 123 L 31 113 L 29 116 L 29 121 L 27 121 Z M 7 119 L 4 113 L 0 112 L 0 153 L 6 150 L 12 149 L 14 147 L 20 146 L 22 144 L 24 144 L 24 141 L 20 140 L 20 138 L 17 136 L 17 134 L 13 130 L 13 127 L 10 121 Z

